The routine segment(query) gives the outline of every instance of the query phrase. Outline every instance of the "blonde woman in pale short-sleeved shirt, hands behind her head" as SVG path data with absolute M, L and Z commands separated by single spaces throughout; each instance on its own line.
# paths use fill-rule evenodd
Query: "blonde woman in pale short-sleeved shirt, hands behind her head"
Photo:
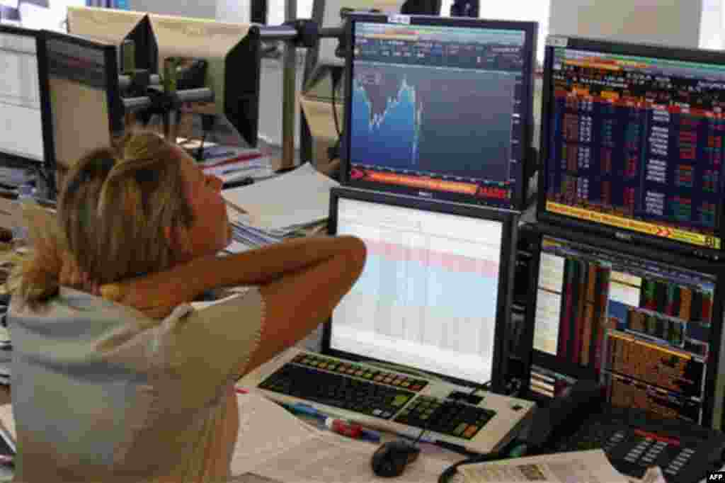
M 8 318 L 15 482 L 230 476 L 234 382 L 330 315 L 365 246 L 320 236 L 218 258 L 230 236 L 220 186 L 182 149 L 138 133 L 75 165 L 57 233 L 32 223 Z M 234 285 L 251 288 L 188 305 Z

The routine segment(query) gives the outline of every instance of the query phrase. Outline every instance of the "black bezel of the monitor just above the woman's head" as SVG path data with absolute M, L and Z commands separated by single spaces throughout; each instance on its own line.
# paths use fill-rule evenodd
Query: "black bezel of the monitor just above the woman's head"
M 45 110 L 48 112 L 49 127 L 51 131 L 48 136 L 47 149 L 48 153 L 48 168 L 55 172 L 58 168 L 57 159 L 55 156 L 55 139 L 52 131 L 52 103 L 50 99 L 50 70 L 48 65 L 48 41 L 63 41 L 76 44 L 78 46 L 87 47 L 90 49 L 97 49 L 103 52 L 104 56 L 104 70 L 106 78 L 106 103 L 108 107 L 108 126 L 109 136 L 111 141 L 117 137 L 123 135 L 124 130 L 124 115 L 125 108 L 123 107 L 123 101 L 120 96 L 120 86 L 118 80 L 118 57 L 117 47 L 107 42 L 94 41 L 90 38 L 75 36 L 71 33 L 62 33 L 52 30 L 40 30 L 39 35 L 42 38 L 42 50 L 43 50 L 43 78 L 41 79 L 41 90 L 46 92 L 46 107 Z

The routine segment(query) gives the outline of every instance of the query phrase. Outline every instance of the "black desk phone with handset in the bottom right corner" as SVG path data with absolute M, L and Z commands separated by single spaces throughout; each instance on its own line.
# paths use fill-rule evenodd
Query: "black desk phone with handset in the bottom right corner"
M 660 466 L 668 483 L 697 483 L 725 463 L 725 434 L 603 403 L 594 381 L 579 381 L 534 416 L 529 454 L 601 448 L 617 471 L 642 478 Z

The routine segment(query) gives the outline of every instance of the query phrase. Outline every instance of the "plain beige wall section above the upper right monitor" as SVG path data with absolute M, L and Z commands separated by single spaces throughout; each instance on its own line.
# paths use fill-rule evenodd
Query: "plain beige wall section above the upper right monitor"
M 549 32 L 697 47 L 702 0 L 551 0 Z

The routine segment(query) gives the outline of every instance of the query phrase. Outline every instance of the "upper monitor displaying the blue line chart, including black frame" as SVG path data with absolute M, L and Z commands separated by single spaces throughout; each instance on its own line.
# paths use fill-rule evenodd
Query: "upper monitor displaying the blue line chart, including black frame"
M 342 181 L 520 209 L 536 22 L 349 16 Z

